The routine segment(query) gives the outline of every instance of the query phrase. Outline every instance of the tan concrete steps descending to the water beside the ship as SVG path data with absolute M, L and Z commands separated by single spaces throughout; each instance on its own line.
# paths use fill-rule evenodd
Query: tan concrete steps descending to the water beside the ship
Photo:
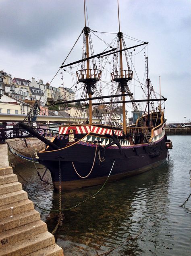
M 0 256 L 63 256 L 8 166 L 7 151 L 0 144 Z

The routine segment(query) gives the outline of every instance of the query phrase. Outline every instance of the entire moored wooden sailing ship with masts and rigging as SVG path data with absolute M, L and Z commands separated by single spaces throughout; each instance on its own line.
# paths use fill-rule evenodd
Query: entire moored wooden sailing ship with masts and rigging
M 87 27 L 85 16 L 85 27 L 79 36 L 83 38 L 82 57 L 69 63 L 66 58 L 60 66 L 62 74 L 71 72 L 71 88 L 79 90 L 81 97 L 57 104 L 75 103 L 76 115 L 60 125 L 59 134 L 51 141 L 19 123 L 22 129 L 45 142 L 44 150 L 38 152 L 38 161 L 50 171 L 57 190 L 94 186 L 107 179 L 112 182 L 143 173 L 164 163 L 172 148 L 164 130 L 166 98 L 154 91 L 149 78 L 148 43 L 126 46 L 125 39 L 130 37 L 120 31 L 119 22 L 115 38 L 104 51 L 95 54 L 92 33 L 96 31 Z M 140 82 L 133 62 L 137 48 L 143 57 L 144 83 Z M 135 87 L 140 89 L 141 94 L 136 95 L 141 95 L 141 99 L 135 99 Z M 130 121 L 126 108 L 132 112 Z M 86 121 L 79 115 L 78 110 L 82 109 L 89 113 Z M 93 118 L 94 113 L 101 113 L 98 121 Z

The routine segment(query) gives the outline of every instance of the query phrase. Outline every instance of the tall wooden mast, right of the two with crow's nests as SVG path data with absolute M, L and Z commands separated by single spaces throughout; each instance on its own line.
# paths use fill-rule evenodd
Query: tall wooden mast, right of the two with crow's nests
M 123 78 L 123 66 L 122 66 L 122 33 L 120 32 L 120 19 L 119 19 L 119 2 L 117 0 L 117 5 L 118 5 L 118 22 L 119 22 L 119 33 L 118 33 L 118 38 L 119 38 L 119 47 L 120 47 L 120 78 Z M 122 91 L 122 94 L 124 94 L 125 91 Z M 122 96 L 122 120 L 123 120 L 123 131 L 126 134 L 126 114 L 125 114 L 125 96 Z

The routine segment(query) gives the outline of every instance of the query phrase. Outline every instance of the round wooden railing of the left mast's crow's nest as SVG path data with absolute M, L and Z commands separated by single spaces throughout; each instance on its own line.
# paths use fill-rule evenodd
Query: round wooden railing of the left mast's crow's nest
M 76 72 L 78 80 L 82 79 L 95 79 L 96 81 L 100 80 L 100 76 L 102 71 L 99 69 L 89 68 L 89 69 L 81 69 Z

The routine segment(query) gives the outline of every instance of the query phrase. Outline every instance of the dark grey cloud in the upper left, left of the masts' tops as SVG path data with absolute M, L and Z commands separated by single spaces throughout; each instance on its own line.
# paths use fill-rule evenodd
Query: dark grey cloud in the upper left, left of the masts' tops
M 96 6 L 100 8 L 100 0 Z M 0 44 L 19 51 L 43 48 L 52 38 L 69 36 L 79 23 L 84 25 L 79 0 L 4 0 L 0 8 Z

